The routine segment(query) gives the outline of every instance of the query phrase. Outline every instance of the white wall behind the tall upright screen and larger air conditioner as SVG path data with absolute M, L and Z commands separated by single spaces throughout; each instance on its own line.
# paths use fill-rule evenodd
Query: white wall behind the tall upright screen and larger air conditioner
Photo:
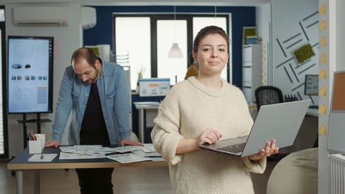
M 43 4 L 34 4 L 41 6 Z M 82 30 L 80 25 L 80 5 L 79 3 L 59 3 L 48 4 L 48 6 L 66 6 L 68 7 L 68 26 L 64 27 L 18 27 L 12 24 L 12 8 L 14 6 L 32 6 L 32 4 L 6 4 L 6 35 L 30 35 L 54 37 L 55 41 L 55 59 L 53 72 L 53 113 L 41 114 L 41 118 L 54 120 L 55 106 L 59 93 L 59 86 L 63 72 L 67 66 L 70 66 L 70 57 L 72 52 L 82 46 Z M 47 6 L 47 5 L 46 5 Z M 42 16 L 44 17 L 44 16 Z M 59 45 L 59 46 L 58 46 Z M 27 119 L 35 119 L 35 114 L 28 114 Z M 8 144 L 9 156 L 15 156 L 23 150 L 23 125 L 17 124 L 16 120 L 22 119 L 22 115 L 8 115 Z M 52 122 L 41 124 L 41 133 L 47 133 L 47 139 L 50 139 L 52 131 Z M 36 124 L 28 124 L 28 132 L 35 133 Z M 68 144 L 66 133 L 63 135 L 62 144 Z

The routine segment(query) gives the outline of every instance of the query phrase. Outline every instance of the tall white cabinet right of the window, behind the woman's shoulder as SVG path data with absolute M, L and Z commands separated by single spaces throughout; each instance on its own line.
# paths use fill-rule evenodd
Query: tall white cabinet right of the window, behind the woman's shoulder
M 242 90 L 248 103 L 255 101 L 255 89 L 262 86 L 262 45 L 242 48 Z

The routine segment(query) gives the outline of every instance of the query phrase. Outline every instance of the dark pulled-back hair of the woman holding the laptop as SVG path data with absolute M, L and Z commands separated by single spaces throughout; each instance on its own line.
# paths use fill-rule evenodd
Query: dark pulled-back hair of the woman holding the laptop
M 229 53 L 229 38 L 228 35 L 226 35 L 226 32 L 219 28 L 218 26 L 207 26 L 205 28 L 202 28 L 198 33 L 197 36 L 194 39 L 193 43 L 193 52 L 197 53 L 197 50 L 199 48 L 199 43 L 204 37 L 210 34 L 219 34 L 221 37 L 223 37 L 226 40 L 226 43 L 228 44 L 228 53 Z

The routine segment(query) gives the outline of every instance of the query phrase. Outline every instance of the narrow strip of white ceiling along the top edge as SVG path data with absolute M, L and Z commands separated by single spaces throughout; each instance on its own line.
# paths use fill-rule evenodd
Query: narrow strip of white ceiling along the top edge
M 271 0 L 0 0 L 7 3 L 81 3 L 86 6 L 261 6 Z

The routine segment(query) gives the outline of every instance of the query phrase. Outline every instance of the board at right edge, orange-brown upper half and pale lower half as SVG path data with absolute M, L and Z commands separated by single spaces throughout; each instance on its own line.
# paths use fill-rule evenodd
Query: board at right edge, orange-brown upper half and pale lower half
M 345 154 L 345 70 L 334 72 L 328 129 L 328 151 Z

